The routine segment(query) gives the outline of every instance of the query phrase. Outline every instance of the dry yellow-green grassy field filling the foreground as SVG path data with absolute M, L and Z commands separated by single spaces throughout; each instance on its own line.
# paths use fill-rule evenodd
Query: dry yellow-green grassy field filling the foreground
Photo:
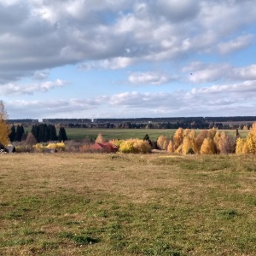
M 256 159 L 1 154 L 0 255 L 255 255 Z

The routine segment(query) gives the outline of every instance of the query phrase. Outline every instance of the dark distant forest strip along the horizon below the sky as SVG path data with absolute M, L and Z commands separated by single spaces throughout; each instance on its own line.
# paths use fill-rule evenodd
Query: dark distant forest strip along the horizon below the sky
M 134 119 L 9 119 L 9 124 L 63 125 L 69 128 L 106 128 L 106 129 L 249 129 L 256 116 L 227 117 L 169 117 L 169 118 L 134 118 Z

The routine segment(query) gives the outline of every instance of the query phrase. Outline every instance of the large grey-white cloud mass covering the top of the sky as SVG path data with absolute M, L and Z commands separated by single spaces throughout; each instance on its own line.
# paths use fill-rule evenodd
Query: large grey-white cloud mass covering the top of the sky
M 88 61 L 117 69 L 212 53 L 217 44 L 223 53 L 241 49 L 252 38 L 233 33 L 256 20 L 252 0 L 13 0 L 2 5 L 0 70 L 6 81 Z M 222 42 L 224 36 L 230 41 Z

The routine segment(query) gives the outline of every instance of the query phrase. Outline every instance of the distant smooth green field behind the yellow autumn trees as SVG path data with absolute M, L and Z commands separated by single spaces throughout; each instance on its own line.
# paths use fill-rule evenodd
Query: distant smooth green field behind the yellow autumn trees
M 160 135 L 166 137 L 172 137 L 177 129 L 83 129 L 83 128 L 66 128 L 68 139 L 84 139 L 90 138 L 95 140 L 99 133 L 106 139 L 128 139 L 128 138 L 140 138 L 148 133 L 151 140 L 157 140 Z M 196 130 L 201 131 L 201 130 Z M 220 130 L 222 131 L 222 130 Z M 234 136 L 234 130 L 223 130 L 228 135 Z M 247 137 L 248 131 L 239 131 L 241 137 Z

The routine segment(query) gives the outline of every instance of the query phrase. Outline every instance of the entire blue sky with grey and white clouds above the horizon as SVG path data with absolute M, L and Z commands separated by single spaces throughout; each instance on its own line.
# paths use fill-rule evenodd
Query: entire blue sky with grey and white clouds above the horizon
M 1 0 L 9 119 L 256 115 L 255 0 Z

